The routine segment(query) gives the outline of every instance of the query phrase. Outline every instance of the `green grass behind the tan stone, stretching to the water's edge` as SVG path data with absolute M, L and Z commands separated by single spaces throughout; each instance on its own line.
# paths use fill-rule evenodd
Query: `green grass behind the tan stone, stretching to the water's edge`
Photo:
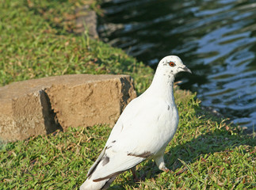
M 0 84 L 62 74 L 131 74 L 142 92 L 151 68 L 120 49 L 72 33 L 75 2 L 0 3 Z

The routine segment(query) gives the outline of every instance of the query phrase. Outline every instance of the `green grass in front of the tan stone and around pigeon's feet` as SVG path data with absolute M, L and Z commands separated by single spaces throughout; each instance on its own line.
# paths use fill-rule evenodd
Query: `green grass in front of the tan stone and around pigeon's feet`
M 112 188 L 255 188 L 255 139 L 202 116 L 193 95 L 177 103 L 181 120 L 165 157 L 173 173 L 162 173 L 154 162 L 145 161 L 137 166 L 139 183 L 132 181 L 132 173 L 125 172 Z M 110 131 L 105 125 L 69 128 L 2 146 L 0 188 L 77 189 Z

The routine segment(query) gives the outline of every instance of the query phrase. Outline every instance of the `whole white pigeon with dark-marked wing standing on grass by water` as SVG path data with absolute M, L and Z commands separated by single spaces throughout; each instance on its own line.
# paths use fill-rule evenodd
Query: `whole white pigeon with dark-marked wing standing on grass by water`
M 124 108 L 80 190 L 109 188 L 120 173 L 146 159 L 154 159 L 159 169 L 169 171 L 163 155 L 178 127 L 173 86 L 181 71 L 191 73 L 178 56 L 159 62 L 151 86 Z

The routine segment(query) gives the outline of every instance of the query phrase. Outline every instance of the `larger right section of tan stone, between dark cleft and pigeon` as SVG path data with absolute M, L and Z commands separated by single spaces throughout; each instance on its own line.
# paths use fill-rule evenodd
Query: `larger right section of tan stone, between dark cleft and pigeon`
M 113 125 L 128 102 L 136 97 L 129 76 L 75 76 L 45 90 L 64 130 L 94 124 Z

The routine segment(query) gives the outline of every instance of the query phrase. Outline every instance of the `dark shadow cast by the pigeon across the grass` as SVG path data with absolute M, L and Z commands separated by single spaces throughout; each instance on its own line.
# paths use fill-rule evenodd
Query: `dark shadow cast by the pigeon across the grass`
M 179 129 L 181 130 L 181 129 Z M 177 175 L 181 170 L 182 163 L 193 163 L 204 157 L 205 154 L 214 154 L 225 150 L 234 149 L 236 146 L 256 146 L 256 142 L 250 136 L 243 135 L 238 129 L 232 129 L 236 133 L 231 135 L 231 130 L 227 131 L 224 128 L 216 128 L 206 132 L 204 135 L 198 135 L 197 138 L 184 143 L 172 143 L 170 151 L 165 154 L 166 167 Z M 178 142 L 177 142 L 178 143 Z M 179 161 L 179 159 L 181 161 Z M 161 170 L 155 165 L 155 161 L 147 161 L 141 169 L 137 170 L 139 179 L 144 181 L 148 178 L 157 178 Z M 139 188 L 139 184 L 133 182 L 132 175 L 122 184 L 114 184 L 111 189 L 124 188 L 124 185 L 131 185 L 133 188 Z

